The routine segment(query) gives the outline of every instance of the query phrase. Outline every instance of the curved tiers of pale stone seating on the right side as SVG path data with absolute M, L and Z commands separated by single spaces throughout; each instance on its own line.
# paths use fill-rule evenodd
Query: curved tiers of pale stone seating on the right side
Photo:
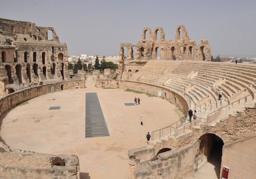
M 149 60 L 129 80 L 177 89 L 180 92 L 185 90 L 194 106 L 209 106 L 207 111 L 213 111 L 243 92 L 250 93 L 254 98 L 256 65 Z M 220 89 L 223 90 L 222 104 L 218 101 Z

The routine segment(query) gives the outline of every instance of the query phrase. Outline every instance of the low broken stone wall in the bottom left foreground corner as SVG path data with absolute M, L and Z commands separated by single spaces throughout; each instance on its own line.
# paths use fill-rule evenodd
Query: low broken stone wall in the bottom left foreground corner
M 80 178 L 79 158 L 26 151 L 0 153 L 0 178 Z

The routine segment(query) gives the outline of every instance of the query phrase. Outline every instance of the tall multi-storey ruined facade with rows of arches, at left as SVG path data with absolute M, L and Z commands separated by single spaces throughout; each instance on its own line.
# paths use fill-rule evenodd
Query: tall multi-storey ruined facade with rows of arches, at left
M 4 94 L 30 84 L 69 79 L 67 45 L 59 42 L 53 27 L 0 18 L 0 67 L 6 70 L 6 74 L 0 71 Z

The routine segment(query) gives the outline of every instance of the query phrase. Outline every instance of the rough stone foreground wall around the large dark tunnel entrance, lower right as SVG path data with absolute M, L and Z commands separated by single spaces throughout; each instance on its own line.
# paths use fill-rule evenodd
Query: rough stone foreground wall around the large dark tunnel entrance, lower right
M 129 151 L 130 178 L 182 178 L 191 176 L 209 153 L 202 137 L 214 134 L 223 141 L 221 169 L 231 168 L 232 178 L 253 178 L 256 175 L 256 108 L 223 119 L 215 126 L 192 127 L 181 137 L 151 143 L 148 148 Z M 211 143 L 211 141 L 204 141 Z M 211 144 L 210 144 L 211 145 Z M 158 154 L 163 149 L 171 149 Z M 202 150 L 205 152 L 203 153 Z M 203 154 L 203 155 L 202 155 Z M 246 168 L 246 169 L 245 169 Z M 247 172 L 245 172 L 247 171 Z

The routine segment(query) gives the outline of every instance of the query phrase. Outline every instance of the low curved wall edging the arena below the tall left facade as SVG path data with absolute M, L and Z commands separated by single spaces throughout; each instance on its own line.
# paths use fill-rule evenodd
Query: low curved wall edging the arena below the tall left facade
M 52 93 L 64 89 L 75 89 L 83 87 L 85 87 L 85 81 L 70 80 L 29 87 L 27 89 L 22 89 L 17 92 L 10 93 L 9 95 L 0 98 L 0 116 L 7 110 L 14 108 L 23 101 L 30 100 L 40 95 L 45 95 L 46 93 Z

